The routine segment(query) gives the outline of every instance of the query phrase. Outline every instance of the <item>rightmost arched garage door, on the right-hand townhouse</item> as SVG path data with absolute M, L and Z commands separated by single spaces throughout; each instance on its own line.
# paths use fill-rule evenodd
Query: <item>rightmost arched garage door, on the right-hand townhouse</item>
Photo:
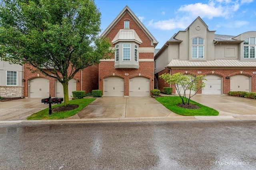
M 250 92 L 250 78 L 245 75 L 234 75 L 230 77 L 230 91 Z

